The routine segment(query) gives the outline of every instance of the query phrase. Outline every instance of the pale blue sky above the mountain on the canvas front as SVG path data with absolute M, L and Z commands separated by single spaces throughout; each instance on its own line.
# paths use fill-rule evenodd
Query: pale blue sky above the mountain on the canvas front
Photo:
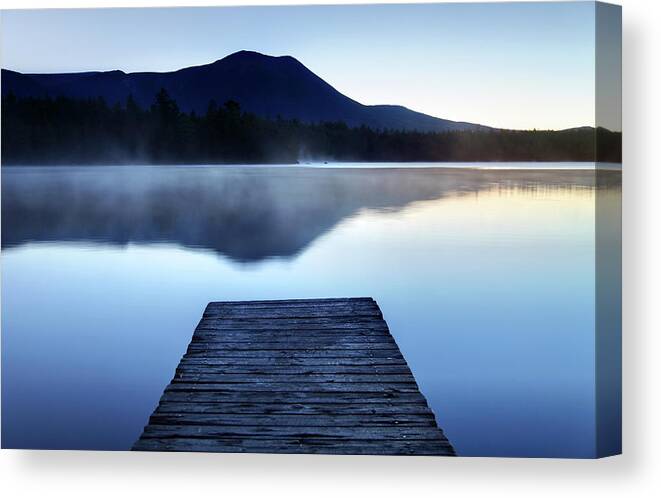
M 168 71 L 292 55 L 364 104 L 506 128 L 594 125 L 592 2 L 2 12 L 2 67 Z

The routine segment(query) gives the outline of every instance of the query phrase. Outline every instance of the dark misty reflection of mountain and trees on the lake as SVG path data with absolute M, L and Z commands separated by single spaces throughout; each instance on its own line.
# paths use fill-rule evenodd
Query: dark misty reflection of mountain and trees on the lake
M 590 170 L 4 167 L 2 247 L 172 242 L 254 262 L 293 257 L 362 209 L 594 185 Z

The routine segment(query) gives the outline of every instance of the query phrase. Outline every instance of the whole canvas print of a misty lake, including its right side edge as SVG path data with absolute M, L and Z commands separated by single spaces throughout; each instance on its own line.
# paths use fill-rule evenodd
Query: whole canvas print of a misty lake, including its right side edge
M 621 9 L 4 10 L 2 448 L 621 452 Z

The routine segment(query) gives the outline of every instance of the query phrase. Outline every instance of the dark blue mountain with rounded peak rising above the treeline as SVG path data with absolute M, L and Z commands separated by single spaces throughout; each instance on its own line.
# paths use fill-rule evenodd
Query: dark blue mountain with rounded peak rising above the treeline
M 344 121 L 349 126 L 448 131 L 487 129 L 449 121 L 396 105 L 363 105 L 341 94 L 298 60 L 241 51 L 211 64 L 166 73 L 95 71 L 61 74 L 23 74 L 2 70 L 2 95 L 17 97 L 103 97 L 124 103 L 129 95 L 150 106 L 161 89 L 186 112 L 206 112 L 210 100 L 219 105 L 235 100 L 259 116 L 296 118 L 303 122 Z

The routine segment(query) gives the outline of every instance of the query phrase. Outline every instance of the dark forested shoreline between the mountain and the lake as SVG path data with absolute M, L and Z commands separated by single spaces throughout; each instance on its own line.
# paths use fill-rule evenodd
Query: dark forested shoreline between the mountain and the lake
M 2 98 L 3 164 L 293 164 L 305 161 L 621 162 L 621 133 L 564 131 L 412 131 L 350 128 L 265 119 L 239 103 L 209 102 L 184 113 L 165 90 L 148 109 L 129 96 L 103 99 Z

